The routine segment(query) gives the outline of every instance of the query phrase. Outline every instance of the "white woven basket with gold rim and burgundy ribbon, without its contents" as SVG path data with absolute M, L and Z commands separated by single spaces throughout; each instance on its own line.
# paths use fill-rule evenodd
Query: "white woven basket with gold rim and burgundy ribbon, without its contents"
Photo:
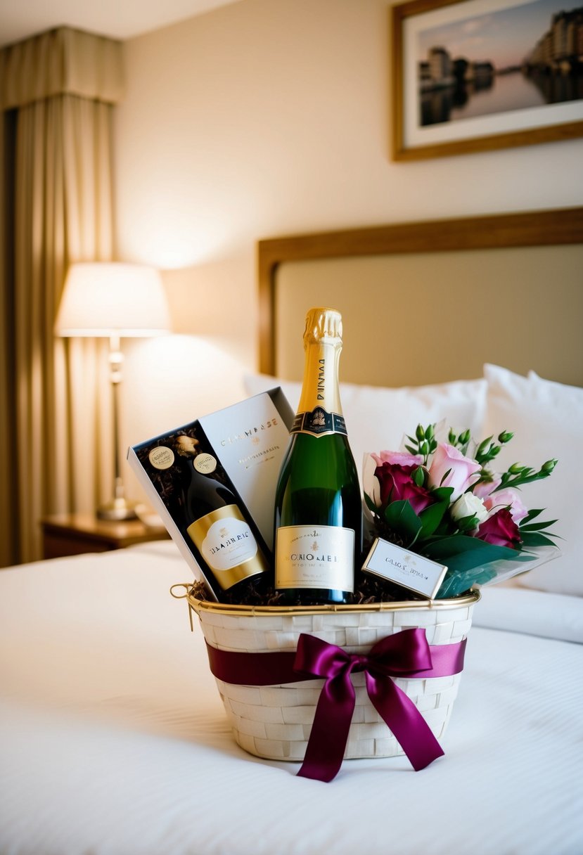
M 443 754 L 439 740 L 480 593 L 310 607 L 185 596 L 245 751 L 303 761 L 299 774 L 322 781 L 332 780 L 343 759 L 405 753 L 422 769 Z

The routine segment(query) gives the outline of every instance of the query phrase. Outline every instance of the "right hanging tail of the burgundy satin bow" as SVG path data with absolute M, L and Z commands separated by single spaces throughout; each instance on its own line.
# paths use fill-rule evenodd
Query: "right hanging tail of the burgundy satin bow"
M 368 697 L 418 772 L 445 754 L 413 701 L 389 676 L 366 674 Z

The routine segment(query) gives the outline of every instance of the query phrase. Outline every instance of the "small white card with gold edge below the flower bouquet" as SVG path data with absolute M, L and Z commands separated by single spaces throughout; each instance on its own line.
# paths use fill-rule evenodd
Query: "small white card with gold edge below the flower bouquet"
M 377 538 L 362 570 L 392 581 L 421 597 L 433 599 L 444 580 L 447 567 L 389 543 L 388 540 Z

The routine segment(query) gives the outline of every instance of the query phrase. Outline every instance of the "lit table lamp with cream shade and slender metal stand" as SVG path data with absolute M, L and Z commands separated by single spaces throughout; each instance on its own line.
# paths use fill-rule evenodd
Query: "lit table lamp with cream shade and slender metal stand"
M 170 332 L 170 314 L 159 272 L 141 264 L 84 262 L 72 264 L 62 292 L 55 332 L 63 337 L 109 339 L 112 391 L 114 496 L 97 508 L 102 520 L 130 520 L 135 503 L 124 494 L 120 466 L 119 386 L 122 337 Z

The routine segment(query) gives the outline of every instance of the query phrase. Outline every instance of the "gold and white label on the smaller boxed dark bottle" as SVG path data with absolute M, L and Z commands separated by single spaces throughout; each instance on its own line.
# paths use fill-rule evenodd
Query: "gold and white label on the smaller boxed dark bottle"
M 266 569 L 255 537 L 236 504 L 212 510 L 186 531 L 223 591 Z

